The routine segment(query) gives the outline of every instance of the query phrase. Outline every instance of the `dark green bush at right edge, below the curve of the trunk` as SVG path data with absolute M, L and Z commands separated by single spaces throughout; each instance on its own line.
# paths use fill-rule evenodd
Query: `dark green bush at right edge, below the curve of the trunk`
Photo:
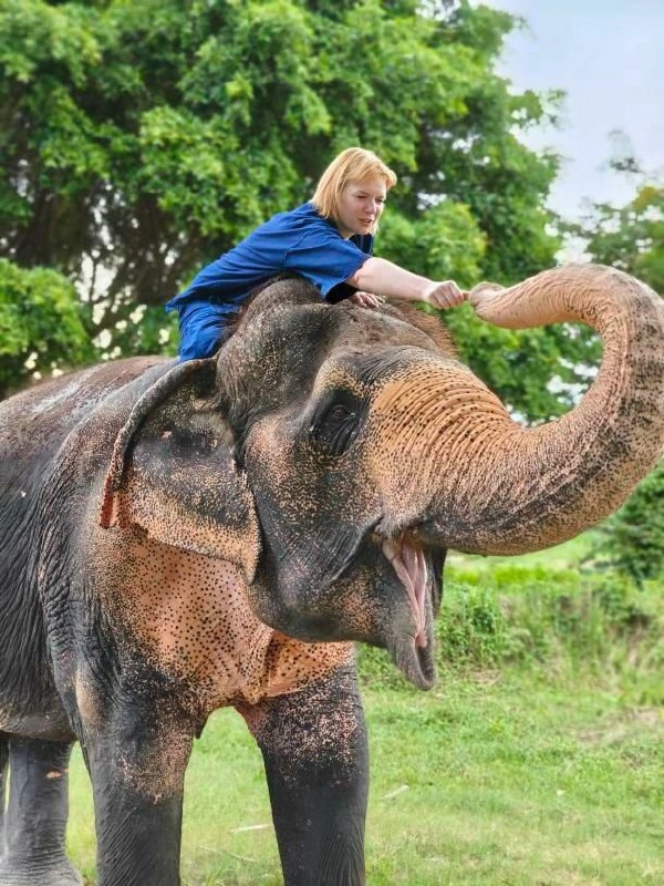
M 596 535 L 589 558 L 639 585 L 664 578 L 664 464 L 652 471 Z

